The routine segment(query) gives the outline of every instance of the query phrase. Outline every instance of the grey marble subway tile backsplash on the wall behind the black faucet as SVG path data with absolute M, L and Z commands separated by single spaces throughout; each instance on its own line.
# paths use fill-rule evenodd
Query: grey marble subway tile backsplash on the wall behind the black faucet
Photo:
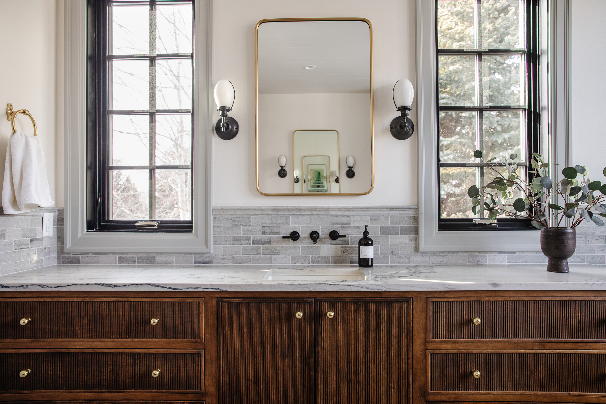
M 546 263 L 541 251 L 421 253 L 418 250 L 418 210 L 398 207 L 215 207 L 213 254 L 187 253 L 64 253 L 62 210 L 58 219 L 57 263 L 118 265 L 330 265 L 358 263 L 358 240 L 364 225 L 375 240 L 375 265 Z M 318 243 L 308 234 L 317 230 Z M 347 237 L 330 240 L 337 230 Z M 291 231 L 301 238 L 282 239 Z M 575 263 L 605 263 L 606 227 L 577 228 Z

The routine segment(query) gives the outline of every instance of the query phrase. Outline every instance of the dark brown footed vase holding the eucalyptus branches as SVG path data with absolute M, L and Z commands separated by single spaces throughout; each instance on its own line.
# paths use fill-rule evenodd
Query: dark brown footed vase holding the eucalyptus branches
M 576 230 L 567 227 L 541 229 L 541 250 L 549 259 L 547 271 L 568 272 L 568 258 L 576 248 Z

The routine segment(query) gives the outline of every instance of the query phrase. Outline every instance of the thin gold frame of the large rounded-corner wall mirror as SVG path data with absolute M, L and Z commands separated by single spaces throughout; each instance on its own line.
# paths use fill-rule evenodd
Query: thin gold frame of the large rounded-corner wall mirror
M 259 26 L 265 22 L 290 22 L 290 21 L 362 21 L 368 24 L 370 34 L 370 189 L 365 192 L 351 193 L 265 193 L 259 188 Z M 374 114 L 374 89 L 373 89 L 373 25 L 365 18 L 268 18 L 257 22 L 255 26 L 255 182 L 259 194 L 264 196 L 348 196 L 367 195 L 375 189 L 375 114 Z

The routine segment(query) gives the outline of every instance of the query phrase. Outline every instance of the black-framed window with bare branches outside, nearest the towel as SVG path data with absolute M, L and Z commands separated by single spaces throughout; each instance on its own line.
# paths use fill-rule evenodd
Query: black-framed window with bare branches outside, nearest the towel
M 88 1 L 88 231 L 193 231 L 193 7 Z

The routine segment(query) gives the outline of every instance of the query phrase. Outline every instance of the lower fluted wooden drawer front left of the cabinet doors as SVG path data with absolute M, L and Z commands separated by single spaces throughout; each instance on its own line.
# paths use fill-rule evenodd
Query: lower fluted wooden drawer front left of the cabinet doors
M 0 391 L 203 391 L 203 379 L 202 351 L 0 353 Z

